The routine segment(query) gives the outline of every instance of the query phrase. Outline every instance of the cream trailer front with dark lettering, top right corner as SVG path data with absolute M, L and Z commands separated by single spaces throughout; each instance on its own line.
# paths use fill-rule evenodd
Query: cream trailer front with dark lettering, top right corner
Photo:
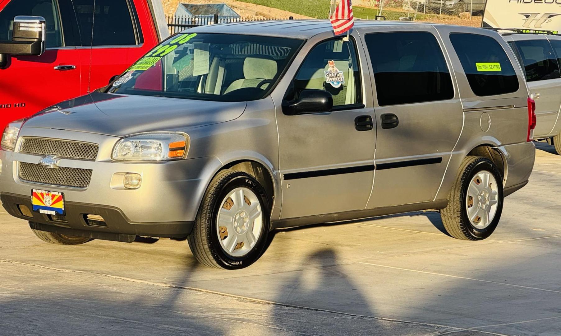
M 561 0 L 488 0 L 482 26 L 557 34 Z

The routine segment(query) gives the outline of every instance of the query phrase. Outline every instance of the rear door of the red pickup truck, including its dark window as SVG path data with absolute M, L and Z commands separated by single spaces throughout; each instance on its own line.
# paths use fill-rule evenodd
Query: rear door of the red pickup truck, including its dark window
M 73 0 L 91 46 L 88 91 L 104 87 L 158 42 L 153 19 L 139 0 Z

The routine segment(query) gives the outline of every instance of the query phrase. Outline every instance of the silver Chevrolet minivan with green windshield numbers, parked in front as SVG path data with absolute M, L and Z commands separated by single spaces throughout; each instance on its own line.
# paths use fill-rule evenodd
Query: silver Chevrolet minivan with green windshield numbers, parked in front
M 270 231 L 439 210 L 495 230 L 534 165 L 534 102 L 495 31 L 236 22 L 165 40 L 107 88 L 12 122 L 0 197 L 41 239 L 184 239 L 238 269 Z

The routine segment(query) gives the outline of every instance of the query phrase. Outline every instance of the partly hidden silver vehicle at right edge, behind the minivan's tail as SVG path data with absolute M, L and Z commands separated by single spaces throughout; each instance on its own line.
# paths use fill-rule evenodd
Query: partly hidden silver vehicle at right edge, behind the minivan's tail
M 548 140 L 561 155 L 561 35 L 517 31 L 502 35 L 518 57 L 536 101 L 534 138 Z

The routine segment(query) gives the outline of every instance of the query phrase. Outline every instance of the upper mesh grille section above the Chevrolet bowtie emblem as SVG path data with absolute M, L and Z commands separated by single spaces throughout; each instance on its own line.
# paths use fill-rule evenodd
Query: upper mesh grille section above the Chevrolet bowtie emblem
M 95 161 L 98 145 L 59 139 L 24 138 L 20 152 Z

